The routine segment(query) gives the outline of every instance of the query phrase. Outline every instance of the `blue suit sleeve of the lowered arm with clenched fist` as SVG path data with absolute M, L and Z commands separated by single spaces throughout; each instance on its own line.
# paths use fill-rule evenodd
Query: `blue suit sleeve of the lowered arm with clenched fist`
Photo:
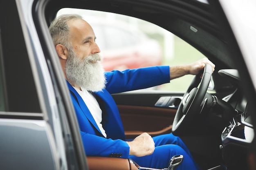
M 130 147 L 121 139 L 106 139 L 82 132 L 81 138 L 87 156 L 128 158 Z M 104 147 L 102 147 L 104 146 Z

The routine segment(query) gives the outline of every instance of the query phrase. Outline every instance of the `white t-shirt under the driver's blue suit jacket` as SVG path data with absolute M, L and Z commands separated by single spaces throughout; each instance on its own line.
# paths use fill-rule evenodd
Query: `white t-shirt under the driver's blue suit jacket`
M 101 130 L 101 133 L 104 137 L 107 137 L 107 134 L 105 130 L 102 127 L 101 121 L 102 121 L 102 110 L 99 106 L 99 103 L 95 99 L 95 97 L 89 93 L 88 91 L 84 90 L 83 88 L 82 91 L 79 90 L 79 88 L 74 87 L 76 89 L 77 93 L 82 97 L 83 101 L 85 102 L 86 106 L 90 110 L 90 113 L 92 114 L 92 117 L 96 121 L 99 129 Z

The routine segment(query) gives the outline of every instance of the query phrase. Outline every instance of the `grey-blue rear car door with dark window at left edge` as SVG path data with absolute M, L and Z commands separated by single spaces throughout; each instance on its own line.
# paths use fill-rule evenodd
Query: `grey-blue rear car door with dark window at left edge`
M 57 170 L 62 139 L 54 139 L 37 91 L 17 6 L 0 2 L 0 169 Z

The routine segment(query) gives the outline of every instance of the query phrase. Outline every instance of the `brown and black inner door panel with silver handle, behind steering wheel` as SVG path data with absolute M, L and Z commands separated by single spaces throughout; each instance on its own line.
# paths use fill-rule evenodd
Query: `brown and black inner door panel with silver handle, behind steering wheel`
M 142 95 L 143 94 L 143 95 Z M 156 91 L 126 92 L 112 95 L 117 103 L 126 139 L 143 132 L 151 136 L 171 133 L 182 94 Z

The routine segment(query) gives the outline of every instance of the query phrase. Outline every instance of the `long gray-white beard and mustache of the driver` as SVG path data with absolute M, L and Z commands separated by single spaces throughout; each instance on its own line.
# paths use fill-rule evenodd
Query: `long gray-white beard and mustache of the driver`
M 73 49 L 69 50 L 65 70 L 67 81 L 87 91 L 102 91 L 106 87 L 106 77 L 101 60 L 99 54 L 80 59 Z

